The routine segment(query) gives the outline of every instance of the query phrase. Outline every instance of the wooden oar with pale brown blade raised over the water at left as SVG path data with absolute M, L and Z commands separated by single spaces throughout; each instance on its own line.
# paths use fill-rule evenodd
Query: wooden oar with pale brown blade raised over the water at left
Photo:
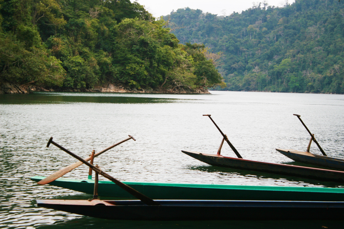
M 123 141 L 121 141 L 121 142 L 119 142 L 119 143 L 116 143 L 115 145 L 110 146 L 109 148 L 106 148 L 105 150 L 103 150 L 103 151 L 101 151 L 101 152 L 95 154 L 94 157 L 97 157 L 97 156 L 101 155 L 102 153 L 104 153 L 104 152 L 106 152 L 106 151 L 112 149 L 113 147 L 118 146 L 119 144 L 122 144 L 122 143 L 124 143 L 124 142 L 126 142 L 126 141 L 128 141 L 128 140 L 133 139 L 134 141 L 136 141 L 136 140 L 134 139 L 133 136 L 129 135 L 129 137 L 130 137 L 130 138 L 127 138 L 127 139 L 125 139 L 125 140 L 123 140 Z M 91 156 L 90 156 L 90 157 L 87 157 L 87 158 L 84 158 L 84 160 L 85 160 L 85 161 L 91 160 Z M 80 162 L 80 161 L 75 162 L 74 164 L 71 164 L 71 165 L 69 165 L 69 166 L 67 166 L 67 167 L 65 167 L 65 168 L 63 168 L 63 169 L 61 169 L 61 170 L 59 170 L 59 171 L 57 171 L 57 172 L 51 174 L 50 176 L 48 176 L 48 177 L 46 177 L 46 178 L 44 178 L 44 179 L 38 181 L 37 184 L 38 184 L 38 185 L 46 185 L 46 184 L 49 184 L 50 182 L 56 180 L 57 178 L 63 176 L 64 174 L 66 174 L 66 173 L 72 171 L 74 168 L 77 168 L 77 167 L 79 167 L 80 165 L 82 165 L 82 162 Z

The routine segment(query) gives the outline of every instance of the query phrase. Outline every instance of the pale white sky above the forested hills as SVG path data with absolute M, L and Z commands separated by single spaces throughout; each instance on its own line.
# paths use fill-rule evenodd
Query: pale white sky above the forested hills
M 155 18 L 170 14 L 173 10 L 189 7 L 190 9 L 200 9 L 203 13 L 217 14 L 218 16 L 231 15 L 233 11 L 241 14 L 242 11 L 259 5 L 264 0 L 131 0 L 145 6 L 145 9 Z M 295 0 L 266 0 L 269 6 L 283 7 L 285 2 L 292 4 Z M 263 7 L 263 5 L 261 5 Z

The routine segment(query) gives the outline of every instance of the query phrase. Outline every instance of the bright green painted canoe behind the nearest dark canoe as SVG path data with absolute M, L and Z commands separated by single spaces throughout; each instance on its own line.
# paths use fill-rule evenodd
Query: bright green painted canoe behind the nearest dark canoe
M 31 180 L 39 181 L 44 178 L 45 176 L 34 176 Z M 344 201 L 344 189 L 341 188 L 124 183 L 152 199 Z M 94 190 L 92 179 L 59 178 L 49 185 L 87 194 L 93 194 Z M 98 195 L 135 199 L 111 181 L 99 181 Z

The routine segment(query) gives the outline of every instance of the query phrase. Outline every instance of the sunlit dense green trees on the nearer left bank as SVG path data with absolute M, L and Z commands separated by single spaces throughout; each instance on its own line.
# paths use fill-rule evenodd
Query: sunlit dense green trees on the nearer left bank
M 0 0 L 0 83 L 133 88 L 221 83 L 204 45 L 185 43 L 129 0 Z

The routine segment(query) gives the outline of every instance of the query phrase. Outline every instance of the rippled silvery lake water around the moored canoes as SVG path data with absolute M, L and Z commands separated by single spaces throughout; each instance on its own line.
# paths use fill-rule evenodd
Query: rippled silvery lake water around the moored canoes
M 121 181 L 336 187 L 296 177 L 213 167 L 181 150 L 217 153 L 227 134 L 245 159 L 295 164 L 276 148 L 306 150 L 311 130 L 328 156 L 344 158 L 344 95 L 211 91 L 211 95 L 35 93 L 0 95 L 0 228 L 342 228 L 331 221 L 111 221 L 39 208 L 35 199 L 90 195 L 38 186 L 76 160 L 55 146 L 87 157 L 133 135 L 95 159 Z M 320 153 L 313 144 L 311 152 Z M 233 156 L 228 145 L 222 154 Z M 64 177 L 87 178 L 80 166 Z M 105 179 L 101 177 L 100 179 Z

